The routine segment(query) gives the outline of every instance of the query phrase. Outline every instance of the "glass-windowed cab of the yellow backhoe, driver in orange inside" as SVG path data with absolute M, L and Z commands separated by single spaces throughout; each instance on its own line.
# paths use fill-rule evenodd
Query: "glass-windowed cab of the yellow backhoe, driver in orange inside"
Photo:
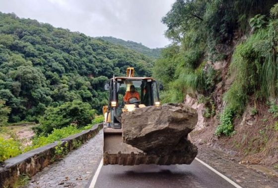
M 146 106 L 159 106 L 157 82 L 151 77 L 133 77 L 134 69 L 128 68 L 126 77 L 113 77 L 105 85 L 110 91 L 108 106 L 103 107 L 104 125 L 121 128 L 121 115 Z

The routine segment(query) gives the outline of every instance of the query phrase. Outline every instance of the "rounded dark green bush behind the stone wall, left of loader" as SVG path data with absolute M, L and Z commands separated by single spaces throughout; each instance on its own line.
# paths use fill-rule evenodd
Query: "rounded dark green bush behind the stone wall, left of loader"
M 95 110 L 92 110 L 88 103 L 79 100 L 66 102 L 58 107 L 48 107 L 40 119 L 41 125 L 37 127 L 37 133 L 46 135 L 54 128 L 62 128 L 70 124 L 82 127 L 91 123 L 94 115 Z

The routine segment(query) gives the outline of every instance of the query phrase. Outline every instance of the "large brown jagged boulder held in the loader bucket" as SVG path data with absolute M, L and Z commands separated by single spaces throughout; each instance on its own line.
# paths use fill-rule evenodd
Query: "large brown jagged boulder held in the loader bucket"
M 196 110 L 184 104 L 138 108 L 122 114 L 123 140 L 147 154 L 197 155 L 197 147 L 187 140 L 198 121 Z

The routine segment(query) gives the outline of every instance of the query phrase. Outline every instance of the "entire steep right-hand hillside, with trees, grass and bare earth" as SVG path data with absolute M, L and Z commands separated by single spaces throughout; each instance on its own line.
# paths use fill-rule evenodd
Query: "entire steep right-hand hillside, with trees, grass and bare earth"
M 278 169 L 277 0 L 176 0 L 155 62 L 163 102 L 197 109 L 200 145 Z

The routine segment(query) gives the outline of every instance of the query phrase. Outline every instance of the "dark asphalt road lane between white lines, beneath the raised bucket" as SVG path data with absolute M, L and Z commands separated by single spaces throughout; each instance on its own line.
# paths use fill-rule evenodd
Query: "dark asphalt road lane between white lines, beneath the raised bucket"
M 95 188 L 234 188 L 200 162 L 191 165 L 102 166 Z

